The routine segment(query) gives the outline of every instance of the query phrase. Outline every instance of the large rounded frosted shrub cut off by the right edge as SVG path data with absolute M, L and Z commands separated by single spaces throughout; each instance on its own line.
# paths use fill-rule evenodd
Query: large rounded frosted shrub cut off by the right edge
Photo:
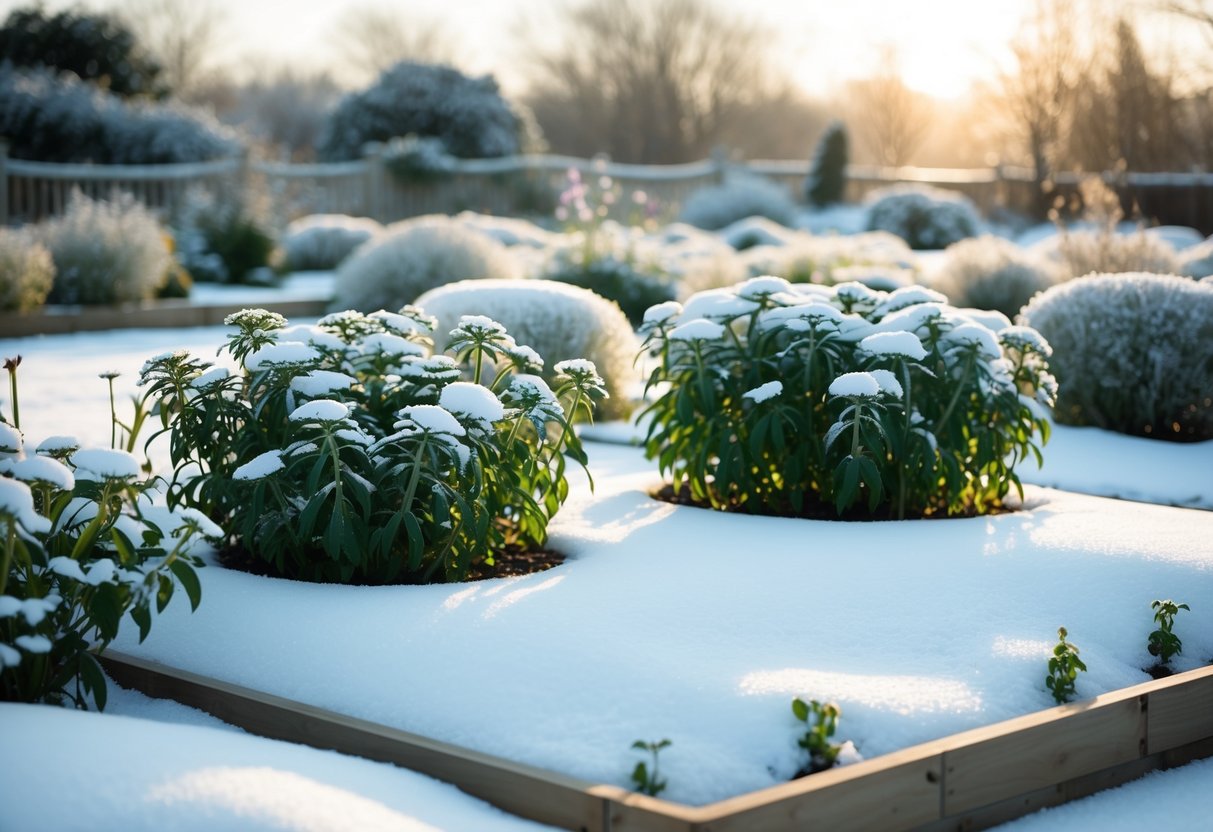
M 1090 275 L 1037 296 L 1021 318 L 1053 344 L 1059 422 L 1213 439 L 1213 285 Z

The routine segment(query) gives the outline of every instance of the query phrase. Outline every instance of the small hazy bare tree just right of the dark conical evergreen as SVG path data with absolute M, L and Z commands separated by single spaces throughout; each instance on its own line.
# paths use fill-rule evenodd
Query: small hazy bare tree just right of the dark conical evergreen
M 848 85 L 848 121 L 878 165 L 900 167 L 922 143 L 932 121 L 932 102 L 901 80 L 896 50 L 885 46 L 871 78 Z

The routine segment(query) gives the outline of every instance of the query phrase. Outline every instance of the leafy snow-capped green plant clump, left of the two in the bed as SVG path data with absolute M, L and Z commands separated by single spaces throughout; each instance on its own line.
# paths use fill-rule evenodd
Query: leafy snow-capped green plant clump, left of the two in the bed
M 340 312 L 317 326 L 245 309 L 226 367 L 150 359 L 176 468 L 167 497 L 223 524 L 274 574 L 311 581 L 462 580 L 542 546 L 585 465 L 570 429 L 600 395 L 588 361 L 541 361 L 496 321 L 465 318 L 432 354 L 420 309 Z

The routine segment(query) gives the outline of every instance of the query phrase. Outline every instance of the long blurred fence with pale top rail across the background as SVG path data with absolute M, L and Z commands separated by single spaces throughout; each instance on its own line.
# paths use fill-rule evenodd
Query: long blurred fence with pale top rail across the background
M 355 161 L 285 164 L 247 158 L 183 165 L 58 165 L 10 159 L 0 143 L 0 226 L 61 213 L 74 189 L 97 198 L 125 192 L 167 217 L 177 215 L 193 189 L 228 194 L 250 184 L 264 190 L 284 218 L 304 213 L 348 213 L 394 222 L 422 213 L 549 213 L 570 170 L 609 176 L 627 190 L 644 190 L 667 212 L 677 212 L 696 189 L 731 176 L 752 175 L 798 196 L 808 173 L 804 160 L 727 161 L 683 165 L 632 165 L 560 155 L 520 155 L 460 160 L 449 175 L 429 182 L 397 179 L 381 154 Z M 1146 217 L 1213 233 L 1213 173 L 1104 173 L 1126 205 Z M 1052 177 L 1055 195 L 1069 198 L 1083 175 Z M 957 190 L 987 215 L 998 209 L 1033 213 L 1041 205 L 1033 172 L 1025 167 L 877 167 L 847 169 L 847 199 L 894 183 Z

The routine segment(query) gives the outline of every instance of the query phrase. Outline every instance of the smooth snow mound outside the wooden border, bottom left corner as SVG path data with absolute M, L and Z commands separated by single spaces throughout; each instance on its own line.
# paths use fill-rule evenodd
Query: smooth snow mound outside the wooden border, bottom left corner
M 224 729 L 16 703 L 0 724 L 4 828 L 546 828 L 392 765 Z

